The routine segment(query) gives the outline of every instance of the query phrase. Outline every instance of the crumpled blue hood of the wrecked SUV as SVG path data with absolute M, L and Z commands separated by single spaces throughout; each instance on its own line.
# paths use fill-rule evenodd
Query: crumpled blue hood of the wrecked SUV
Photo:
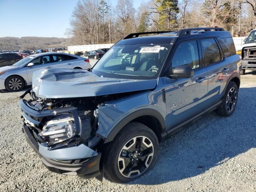
M 42 69 L 34 72 L 32 88 L 40 98 L 75 98 L 149 90 L 157 80 L 99 77 L 86 70 Z

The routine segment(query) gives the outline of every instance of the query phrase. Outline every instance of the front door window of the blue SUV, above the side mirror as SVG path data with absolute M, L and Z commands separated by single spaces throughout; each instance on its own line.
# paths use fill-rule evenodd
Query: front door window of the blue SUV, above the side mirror
M 176 48 L 172 58 L 172 68 L 180 65 L 188 65 L 193 69 L 200 67 L 196 40 L 181 42 Z

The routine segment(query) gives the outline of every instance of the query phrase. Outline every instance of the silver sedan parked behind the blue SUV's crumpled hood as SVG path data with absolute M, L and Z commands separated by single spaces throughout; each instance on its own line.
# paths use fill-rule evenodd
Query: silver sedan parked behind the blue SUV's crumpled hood
M 65 53 L 39 53 L 28 56 L 12 66 L 0 68 L 0 90 L 19 91 L 32 84 L 33 72 L 39 69 L 88 69 L 86 58 Z

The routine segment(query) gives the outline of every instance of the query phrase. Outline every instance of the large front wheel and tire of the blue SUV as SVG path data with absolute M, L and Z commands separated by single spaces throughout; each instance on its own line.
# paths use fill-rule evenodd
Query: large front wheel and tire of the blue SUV
M 103 170 L 113 182 L 130 182 L 154 166 L 158 151 L 156 134 L 144 124 L 131 122 L 110 144 L 103 162 Z M 132 167 L 129 171 L 130 166 Z

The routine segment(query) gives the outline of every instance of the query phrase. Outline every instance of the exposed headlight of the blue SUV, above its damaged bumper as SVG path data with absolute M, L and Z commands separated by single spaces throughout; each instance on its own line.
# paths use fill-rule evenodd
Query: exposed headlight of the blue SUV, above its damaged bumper
M 48 121 L 39 136 L 51 144 L 56 144 L 74 137 L 77 133 L 73 116 L 63 114 Z

